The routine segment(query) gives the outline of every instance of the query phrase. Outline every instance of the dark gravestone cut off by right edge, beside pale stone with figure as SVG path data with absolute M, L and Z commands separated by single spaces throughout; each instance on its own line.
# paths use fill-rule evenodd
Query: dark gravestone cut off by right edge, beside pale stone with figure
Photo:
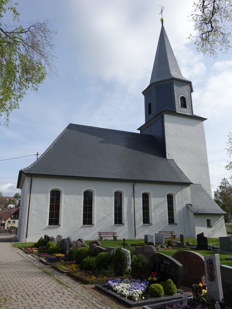
M 232 305 L 232 267 L 227 265 L 220 265 L 221 270 L 221 284 L 223 290 L 224 303 Z

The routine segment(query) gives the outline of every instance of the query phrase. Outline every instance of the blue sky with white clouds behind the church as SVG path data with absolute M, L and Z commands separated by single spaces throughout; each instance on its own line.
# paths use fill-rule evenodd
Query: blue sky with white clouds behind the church
M 27 91 L 20 108 L 0 125 L 0 191 L 16 188 L 19 170 L 36 160 L 69 123 L 137 132 L 144 124 L 161 30 L 154 0 L 18 0 L 20 23 L 43 22 L 57 31 L 57 75 L 38 92 Z M 163 0 L 164 27 L 182 75 L 192 81 L 193 112 L 204 121 L 212 193 L 230 173 L 226 142 L 231 130 L 232 50 L 217 59 L 198 54 L 188 15 L 192 1 Z M 7 16 L 8 17 L 8 16 Z M 13 22 L 10 21 L 12 25 Z M 6 160 L 16 157 L 19 159 Z

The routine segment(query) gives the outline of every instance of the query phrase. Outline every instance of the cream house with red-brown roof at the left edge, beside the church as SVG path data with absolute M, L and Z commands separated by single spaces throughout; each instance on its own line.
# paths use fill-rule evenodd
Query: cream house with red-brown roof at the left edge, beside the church
M 0 228 L 8 230 L 11 226 L 18 227 L 19 224 L 19 208 L 3 208 L 0 215 Z

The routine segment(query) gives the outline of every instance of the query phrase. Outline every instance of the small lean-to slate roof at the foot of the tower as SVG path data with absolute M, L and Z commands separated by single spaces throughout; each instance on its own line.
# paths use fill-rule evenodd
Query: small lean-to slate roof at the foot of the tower
M 226 214 L 200 184 L 190 185 L 190 196 L 187 206 L 194 214 Z

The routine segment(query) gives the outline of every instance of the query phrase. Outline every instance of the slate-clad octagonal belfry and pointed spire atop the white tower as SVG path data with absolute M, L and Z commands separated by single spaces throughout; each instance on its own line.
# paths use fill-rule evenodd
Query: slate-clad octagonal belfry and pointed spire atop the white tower
M 145 122 L 163 110 L 193 115 L 192 83 L 183 77 L 166 34 L 163 18 L 151 80 L 143 91 Z

